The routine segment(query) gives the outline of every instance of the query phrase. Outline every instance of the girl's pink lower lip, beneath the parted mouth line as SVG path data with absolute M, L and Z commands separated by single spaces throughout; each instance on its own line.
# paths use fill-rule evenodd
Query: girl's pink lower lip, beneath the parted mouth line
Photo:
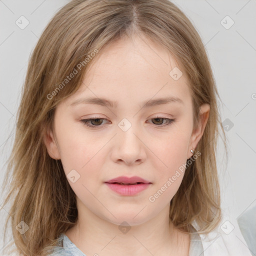
M 106 182 L 105 182 L 106 183 Z M 117 183 L 106 183 L 110 189 L 121 195 L 134 195 L 146 189 L 151 183 L 140 183 L 134 185 L 121 185 Z

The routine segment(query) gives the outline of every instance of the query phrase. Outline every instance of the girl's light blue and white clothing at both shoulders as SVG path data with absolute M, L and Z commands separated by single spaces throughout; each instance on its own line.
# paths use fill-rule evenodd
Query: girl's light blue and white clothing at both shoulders
M 189 256 L 253 256 L 242 236 L 236 219 L 223 211 L 219 226 L 207 235 L 198 234 L 196 223 L 192 224 Z M 228 217 L 227 217 L 228 216 Z M 50 256 L 86 256 L 62 233 L 62 244 Z

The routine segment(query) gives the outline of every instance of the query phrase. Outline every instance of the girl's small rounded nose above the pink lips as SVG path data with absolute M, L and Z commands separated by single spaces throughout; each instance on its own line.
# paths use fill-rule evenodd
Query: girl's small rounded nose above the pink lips
M 118 127 L 113 140 L 111 158 L 114 162 L 127 165 L 140 164 L 146 158 L 146 145 L 135 125 L 124 131 Z

